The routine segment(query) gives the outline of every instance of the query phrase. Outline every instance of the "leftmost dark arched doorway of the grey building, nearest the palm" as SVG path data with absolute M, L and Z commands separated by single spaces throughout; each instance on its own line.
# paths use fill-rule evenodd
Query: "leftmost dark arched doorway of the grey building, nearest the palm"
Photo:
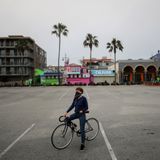
M 131 66 L 126 66 L 123 70 L 123 82 L 133 81 L 133 68 Z

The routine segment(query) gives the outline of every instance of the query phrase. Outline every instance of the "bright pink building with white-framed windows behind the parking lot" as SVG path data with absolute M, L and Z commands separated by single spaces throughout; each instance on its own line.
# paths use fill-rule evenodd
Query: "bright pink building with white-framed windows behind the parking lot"
M 86 67 L 78 64 L 69 64 L 65 66 L 64 71 L 66 84 L 89 84 L 89 73 Z

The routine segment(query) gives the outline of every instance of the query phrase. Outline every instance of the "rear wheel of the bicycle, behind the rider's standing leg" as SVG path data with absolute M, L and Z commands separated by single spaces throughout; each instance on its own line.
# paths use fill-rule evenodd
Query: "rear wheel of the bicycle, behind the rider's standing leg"
M 99 133 L 99 122 L 95 118 L 89 118 L 85 124 L 86 140 L 91 141 L 97 137 Z

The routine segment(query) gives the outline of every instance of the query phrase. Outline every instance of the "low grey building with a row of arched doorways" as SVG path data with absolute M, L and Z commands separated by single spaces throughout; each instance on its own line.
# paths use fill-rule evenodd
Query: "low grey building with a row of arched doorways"
M 117 61 L 119 83 L 140 84 L 154 81 L 160 76 L 160 52 L 150 59 Z

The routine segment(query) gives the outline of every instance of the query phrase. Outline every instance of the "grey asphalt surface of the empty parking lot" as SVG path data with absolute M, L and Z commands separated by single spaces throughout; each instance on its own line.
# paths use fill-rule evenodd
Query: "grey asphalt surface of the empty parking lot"
M 86 142 L 83 152 L 76 135 L 68 148 L 53 148 L 52 131 L 75 88 L 0 88 L 0 160 L 160 159 L 160 87 L 83 87 L 90 108 L 87 117 L 99 120 L 113 152 L 103 130 Z

